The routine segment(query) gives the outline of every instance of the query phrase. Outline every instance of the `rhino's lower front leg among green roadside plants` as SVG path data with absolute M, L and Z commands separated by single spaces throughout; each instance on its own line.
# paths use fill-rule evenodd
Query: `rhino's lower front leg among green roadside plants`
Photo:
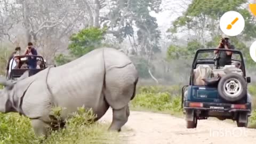
M 34 132 L 37 136 L 46 136 L 47 137 L 47 128 L 49 125 L 44 123 L 41 119 L 31 119 L 31 125 L 34 129 Z

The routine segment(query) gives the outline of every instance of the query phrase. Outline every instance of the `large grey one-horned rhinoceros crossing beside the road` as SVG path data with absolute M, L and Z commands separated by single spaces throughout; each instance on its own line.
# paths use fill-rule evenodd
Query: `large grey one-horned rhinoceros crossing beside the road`
M 66 108 L 62 118 L 84 106 L 101 118 L 109 107 L 113 121 L 109 130 L 120 131 L 130 115 L 138 72 L 122 52 L 109 47 L 93 50 L 83 57 L 58 67 L 46 68 L 36 75 L 24 73 L 17 81 L 2 79 L 0 111 L 18 112 L 31 119 L 37 135 L 46 135 L 52 106 Z

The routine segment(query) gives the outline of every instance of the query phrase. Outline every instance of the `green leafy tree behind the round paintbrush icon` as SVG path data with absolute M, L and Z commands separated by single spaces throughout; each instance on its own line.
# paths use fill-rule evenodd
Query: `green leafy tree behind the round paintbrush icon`
M 169 29 L 172 34 L 181 31 L 188 31 L 190 36 L 196 36 L 200 38 L 201 43 L 205 46 L 206 40 L 219 36 L 221 33 L 219 29 L 219 20 L 221 16 L 227 11 L 238 11 L 243 14 L 246 22 L 246 26 L 254 29 L 253 15 L 243 7 L 242 4 L 246 3 L 246 0 L 234 0 L 228 3 L 221 0 L 194 0 L 189 6 L 186 12 L 177 20 L 173 22 L 173 26 Z M 252 36 L 247 33 L 245 29 L 243 36 Z M 208 34 L 210 32 L 210 34 Z M 253 33 L 253 32 L 252 32 Z

